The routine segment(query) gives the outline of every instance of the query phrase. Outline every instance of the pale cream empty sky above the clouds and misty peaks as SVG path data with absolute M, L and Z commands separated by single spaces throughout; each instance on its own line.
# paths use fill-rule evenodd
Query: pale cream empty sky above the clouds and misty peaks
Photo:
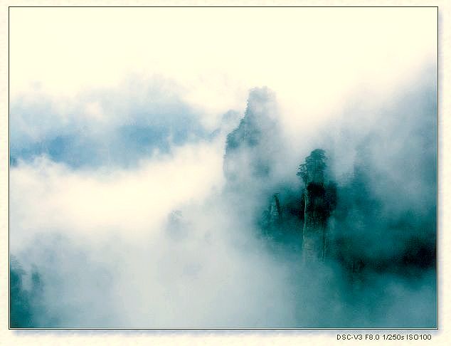
M 433 8 L 14 8 L 10 19 L 11 98 L 158 76 L 208 125 L 268 85 L 301 126 L 354 90 L 390 93 L 437 45 Z

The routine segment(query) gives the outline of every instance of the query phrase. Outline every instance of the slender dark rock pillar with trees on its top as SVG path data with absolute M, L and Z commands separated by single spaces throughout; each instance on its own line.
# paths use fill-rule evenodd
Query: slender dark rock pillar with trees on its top
M 328 181 L 327 158 L 324 150 L 314 150 L 299 166 L 298 175 L 304 182 L 304 225 L 302 228 L 302 256 L 304 261 L 327 256 L 329 235 L 327 224 L 336 206 L 336 186 Z

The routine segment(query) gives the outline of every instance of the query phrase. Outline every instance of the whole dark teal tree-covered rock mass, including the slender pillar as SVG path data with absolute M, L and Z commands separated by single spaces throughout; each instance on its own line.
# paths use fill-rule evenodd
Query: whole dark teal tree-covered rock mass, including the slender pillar
M 297 175 L 305 184 L 302 192 L 282 198 L 276 194 L 272 204 L 277 208 L 268 202 L 270 207 L 262 214 L 260 228 L 267 238 L 287 241 L 295 229 L 298 237 L 292 241 L 310 240 L 306 243 L 310 251 L 327 250 L 329 260 L 340 263 L 351 281 L 362 281 L 371 272 L 419 276 L 435 266 L 432 206 L 424 215 L 405 209 L 391 216 L 387 202 L 372 189 L 378 179 L 373 169 L 356 165 L 350 179 L 338 186 L 329 178 L 324 150 L 312 151 Z

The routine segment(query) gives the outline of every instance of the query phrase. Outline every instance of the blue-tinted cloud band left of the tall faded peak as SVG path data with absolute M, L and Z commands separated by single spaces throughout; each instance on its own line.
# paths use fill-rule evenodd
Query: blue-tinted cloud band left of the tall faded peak
M 36 90 L 11 103 L 11 162 L 43 154 L 70 167 L 132 167 L 208 138 L 201 115 L 168 80 L 130 78 L 76 99 Z

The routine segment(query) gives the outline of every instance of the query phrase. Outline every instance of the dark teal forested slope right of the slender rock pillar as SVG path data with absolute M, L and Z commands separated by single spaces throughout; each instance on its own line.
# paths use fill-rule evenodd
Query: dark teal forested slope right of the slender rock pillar
M 435 267 L 435 215 L 415 216 L 408 209 L 393 220 L 381 197 L 370 188 L 372 172 L 356 167 L 339 188 L 333 257 L 364 280 L 368 273 L 417 277 Z

